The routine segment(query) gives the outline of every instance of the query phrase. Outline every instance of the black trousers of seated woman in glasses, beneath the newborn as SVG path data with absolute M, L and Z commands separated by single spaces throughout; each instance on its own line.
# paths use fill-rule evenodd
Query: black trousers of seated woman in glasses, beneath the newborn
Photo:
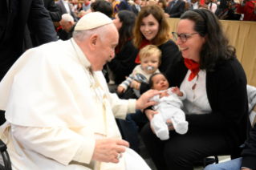
M 158 170 L 193 170 L 193 162 L 207 156 L 230 153 L 230 144 L 220 132 L 189 127 L 185 135 L 169 132 L 169 140 L 160 140 L 147 123 L 141 137 Z

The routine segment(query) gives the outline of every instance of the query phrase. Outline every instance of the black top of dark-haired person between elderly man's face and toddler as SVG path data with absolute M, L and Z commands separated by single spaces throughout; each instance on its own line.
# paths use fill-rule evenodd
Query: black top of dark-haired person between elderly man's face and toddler
M 129 76 L 134 67 L 136 67 L 135 59 L 139 50 L 133 46 L 132 40 L 129 40 L 124 45 L 123 49 L 115 56 L 108 67 L 115 73 L 116 84 L 120 84 L 125 80 L 125 76 Z

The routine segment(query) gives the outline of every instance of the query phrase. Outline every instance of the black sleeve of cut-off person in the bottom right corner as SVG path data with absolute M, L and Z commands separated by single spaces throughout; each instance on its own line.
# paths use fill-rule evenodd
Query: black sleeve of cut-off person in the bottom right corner
M 256 169 L 256 123 L 250 131 L 250 136 L 246 140 L 245 148 L 242 150 L 242 165 L 250 169 Z

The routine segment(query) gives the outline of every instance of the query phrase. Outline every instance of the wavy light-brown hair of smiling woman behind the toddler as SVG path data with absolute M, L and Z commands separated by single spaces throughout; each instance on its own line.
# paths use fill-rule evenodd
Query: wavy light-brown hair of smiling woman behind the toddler
M 161 7 L 157 5 L 144 6 L 140 10 L 140 13 L 136 18 L 135 26 L 133 29 L 133 35 L 134 35 L 133 44 L 134 44 L 134 47 L 138 49 L 140 48 L 141 42 L 145 38 L 140 31 L 141 22 L 142 22 L 142 19 L 145 17 L 148 17 L 149 14 L 152 14 L 152 16 L 156 18 L 157 22 L 159 23 L 159 30 L 158 30 L 158 33 L 156 34 L 156 37 L 152 39 L 152 45 L 155 45 L 156 47 L 158 47 L 169 40 L 170 27 L 167 22 L 167 19 L 165 18 L 164 11 L 161 10 Z

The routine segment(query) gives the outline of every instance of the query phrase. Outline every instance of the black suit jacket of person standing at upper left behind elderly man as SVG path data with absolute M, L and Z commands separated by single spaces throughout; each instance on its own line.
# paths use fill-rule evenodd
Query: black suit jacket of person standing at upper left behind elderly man
M 24 32 L 26 24 L 30 30 L 35 32 L 40 45 L 58 40 L 42 0 L 1 0 L 0 81 L 25 51 Z

